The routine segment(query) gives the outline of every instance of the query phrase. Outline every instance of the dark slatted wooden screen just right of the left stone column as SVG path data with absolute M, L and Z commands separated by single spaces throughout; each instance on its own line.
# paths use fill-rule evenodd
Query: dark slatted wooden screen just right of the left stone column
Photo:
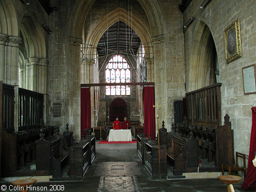
M 19 88 L 19 131 L 40 126 L 44 118 L 44 95 Z

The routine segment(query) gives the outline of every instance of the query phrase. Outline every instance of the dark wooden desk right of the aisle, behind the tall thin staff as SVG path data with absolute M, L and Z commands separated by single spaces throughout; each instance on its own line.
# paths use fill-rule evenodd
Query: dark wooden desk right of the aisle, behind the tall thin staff
M 158 145 L 156 140 L 149 140 L 145 142 L 144 150 L 145 163 L 144 167 L 150 174 L 152 179 L 159 178 L 159 160 L 158 160 Z M 166 146 L 160 146 L 160 165 L 161 165 L 161 178 L 167 177 L 166 167 Z

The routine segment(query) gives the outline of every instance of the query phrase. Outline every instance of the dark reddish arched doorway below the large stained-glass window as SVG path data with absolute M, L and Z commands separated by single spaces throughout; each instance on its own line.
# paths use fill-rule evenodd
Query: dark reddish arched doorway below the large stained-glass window
M 115 98 L 110 103 L 109 121 L 115 121 L 116 117 L 124 119 L 127 116 L 127 104 L 122 98 Z

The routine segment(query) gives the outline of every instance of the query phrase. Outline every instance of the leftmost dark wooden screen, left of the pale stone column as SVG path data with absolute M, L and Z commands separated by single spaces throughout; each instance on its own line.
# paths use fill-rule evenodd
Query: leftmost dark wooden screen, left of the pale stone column
M 3 83 L 2 94 L 2 124 L 8 132 L 14 131 L 14 86 Z

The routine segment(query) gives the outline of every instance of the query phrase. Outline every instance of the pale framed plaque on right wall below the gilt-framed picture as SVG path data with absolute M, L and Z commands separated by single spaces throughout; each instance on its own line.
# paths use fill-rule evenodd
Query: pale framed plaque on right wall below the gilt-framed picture
M 256 93 L 255 65 L 243 67 L 244 94 Z

